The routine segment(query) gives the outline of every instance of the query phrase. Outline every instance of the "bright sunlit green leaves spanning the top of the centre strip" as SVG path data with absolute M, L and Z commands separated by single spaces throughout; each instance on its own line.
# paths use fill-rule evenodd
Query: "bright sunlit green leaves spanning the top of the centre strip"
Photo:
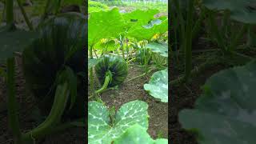
M 155 34 L 164 34 L 168 28 L 168 20 L 162 17 L 158 23 L 147 26 L 151 20 L 156 20 L 154 15 L 158 10 L 134 10 L 130 13 L 120 14 L 119 10 L 94 12 L 89 18 L 89 46 L 94 46 L 102 38 L 136 38 L 138 41 L 148 40 Z

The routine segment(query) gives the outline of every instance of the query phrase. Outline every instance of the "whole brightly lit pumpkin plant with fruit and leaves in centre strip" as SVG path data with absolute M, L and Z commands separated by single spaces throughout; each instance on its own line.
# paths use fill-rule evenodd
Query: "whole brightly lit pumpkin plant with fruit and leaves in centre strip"
M 90 86 L 94 86 L 93 72 L 102 85 L 99 90 L 92 91 L 94 94 L 100 94 L 107 88 L 124 82 L 130 62 L 131 65 L 137 64 L 134 59 L 146 67 L 144 74 L 135 77 L 138 78 L 150 72 L 148 68 L 153 63 L 151 54 L 160 55 L 158 51 L 160 49 L 161 54 L 166 54 L 167 46 L 157 42 L 156 39 L 166 34 L 168 20 L 166 17 L 155 18 L 154 15 L 158 13 L 158 10 L 134 10 L 121 13 L 116 8 L 90 13 L 88 42 Z M 162 42 L 166 42 L 164 37 L 161 38 Z M 153 49 L 146 47 L 147 44 L 154 42 L 159 43 L 160 46 L 154 46 Z M 98 55 L 101 56 L 98 57 Z M 166 64 L 167 55 L 164 55 L 164 58 L 163 63 Z M 150 81 L 151 87 L 149 87 L 152 89 L 160 86 L 161 82 L 154 84 Z M 165 88 L 164 86 L 164 90 Z M 164 97 L 166 98 L 166 95 Z M 146 133 L 149 117 L 146 102 L 138 100 L 127 102 L 115 113 L 114 107 L 108 110 L 101 98 L 96 99 L 99 102 L 89 102 L 88 140 L 90 144 L 167 143 L 166 139 L 153 140 Z M 143 133 L 138 134 L 138 132 Z

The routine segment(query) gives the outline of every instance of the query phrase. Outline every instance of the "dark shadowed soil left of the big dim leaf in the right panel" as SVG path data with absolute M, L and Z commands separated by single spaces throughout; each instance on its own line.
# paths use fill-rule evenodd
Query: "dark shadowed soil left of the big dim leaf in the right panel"
M 209 70 L 204 71 L 204 74 L 192 79 L 192 82 L 182 86 L 171 86 L 171 106 L 170 106 L 170 139 L 175 144 L 197 144 L 195 135 L 182 129 L 181 124 L 178 122 L 178 112 L 183 109 L 193 109 L 194 102 L 201 94 L 202 86 L 207 78 L 215 74 L 219 70 L 224 69 L 223 65 L 216 65 Z

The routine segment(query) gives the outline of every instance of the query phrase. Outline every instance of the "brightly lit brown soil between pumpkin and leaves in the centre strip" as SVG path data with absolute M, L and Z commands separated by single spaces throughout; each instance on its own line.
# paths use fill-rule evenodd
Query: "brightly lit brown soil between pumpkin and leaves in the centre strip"
M 140 66 L 132 65 L 129 67 L 126 81 L 143 74 L 143 69 Z M 168 103 L 158 102 L 151 97 L 143 89 L 143 85 L 149 81 L 148 77 L 136 78 L 130 82 L 124 82 L 118 87 L 118 90 L 108 90 L 101 95 L 102 101 L 106 102 L 106 106 L 115 106 L 118 110 L 126 102 L 141 100 L 149 105 L 148 114 L 149 129 L 148 133 L 152 138 L 167 138 L 168 137 Z

